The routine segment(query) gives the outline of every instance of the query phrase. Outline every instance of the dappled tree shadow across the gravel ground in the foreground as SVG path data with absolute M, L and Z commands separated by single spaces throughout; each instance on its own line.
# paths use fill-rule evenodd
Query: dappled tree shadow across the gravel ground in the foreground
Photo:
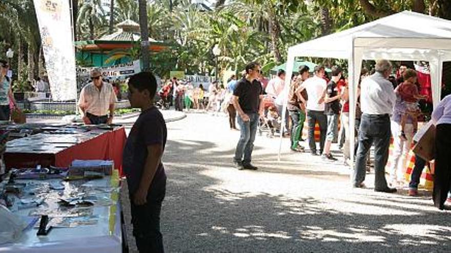
M 415 208 L 418 202 L 412 199 L 384 195 L 368 196 L 367 201 L 340 200 L 351 206 L 363 204 L 368 209 L 383 208 L 388 212 L 367 214 L 337 211 L 323 199 L 313 197 L 288 198 L 218 187 L 221 180 L 205 172 L 212 166 L 233 170 L 234 151 L 211 150 L 214 148 L 212 142 L 168 141 L 163 159 L 167 164 L 167 197 L 161 215 L 168 252 L 449 249 L 449 213 Z M 262 170 L 290 173 L 275 172 L 276 167 Z M 237 178 L 239 173 L 236 171 Z M 319 175 L 327 176 L 327 171 Z

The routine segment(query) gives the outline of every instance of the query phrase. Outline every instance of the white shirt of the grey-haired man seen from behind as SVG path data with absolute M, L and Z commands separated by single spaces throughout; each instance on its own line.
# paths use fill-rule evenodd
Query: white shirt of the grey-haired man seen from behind
M 360 84 L 360 108 L 365 114 L 392 114 L 396 94 L 390 81 L 378 72 Z

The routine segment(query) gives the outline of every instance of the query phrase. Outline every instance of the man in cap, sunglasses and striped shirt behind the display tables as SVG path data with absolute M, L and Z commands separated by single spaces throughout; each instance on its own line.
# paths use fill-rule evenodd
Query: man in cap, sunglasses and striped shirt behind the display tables
M 78 106 L 83 112 L 86 125 L 111 124 L 114 116 L 116 94 L 113 86 L 102 81 L 100 71 L 91 71 L 92 83 L 81 89 Z M 110 113 L 108 114 L 108 111 Z

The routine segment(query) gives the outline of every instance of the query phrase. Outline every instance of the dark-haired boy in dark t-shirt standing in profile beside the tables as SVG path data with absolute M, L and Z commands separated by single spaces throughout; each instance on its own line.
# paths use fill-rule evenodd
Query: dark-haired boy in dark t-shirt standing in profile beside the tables
M 130 104 L 141 108 L 141 114 L 130 130 L 122 167 L 127 176 L 133 236 L 139 252 L 164 251 L 160 211 L 166 193 L 166 174 L 161 156 L 167 129 L 153 103 L 156 87 L 155 77 L 149 72 L 133 75 L 129 80 Z

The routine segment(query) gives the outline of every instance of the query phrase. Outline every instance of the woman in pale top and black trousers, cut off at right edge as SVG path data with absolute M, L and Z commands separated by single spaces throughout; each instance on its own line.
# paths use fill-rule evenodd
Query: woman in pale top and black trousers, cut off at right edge
M 434 110 L 432 121 L 436 125 L 433 199 L 434 205 L 443 210 L 451 186 L 451 95 Z

